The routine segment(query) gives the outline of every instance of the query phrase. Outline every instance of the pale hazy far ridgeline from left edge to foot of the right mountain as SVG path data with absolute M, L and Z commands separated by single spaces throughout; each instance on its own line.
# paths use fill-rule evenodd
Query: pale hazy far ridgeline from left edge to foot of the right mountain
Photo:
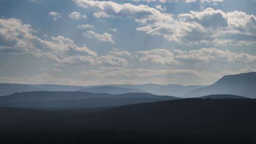
M 16 92 L 25 91 L 85 91 L 93 93 L 138 93 L 147 92 L 155 95 L 168 96 L 183 96 L 185 93 L 202 88 L 204 86 L 183 86 L 183 85 L 157 85 L 157 84 L 142 84 L 142 85 L 96 85 L 96 86 L 69 86 L 69 85 L 30 85 L 30 84 L 12 84 L 0 83 L 0 96 L 7 96 Z

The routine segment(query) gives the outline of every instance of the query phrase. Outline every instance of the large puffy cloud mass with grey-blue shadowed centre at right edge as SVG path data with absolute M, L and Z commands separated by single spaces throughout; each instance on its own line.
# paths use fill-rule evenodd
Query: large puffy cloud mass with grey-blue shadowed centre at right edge
M 256 17 L 245 12 L 212 8 L 179 14 L 173 23 L 146 25 L 137 30 L 164 36 L 181 45 L 252 45 L 256 43 Z

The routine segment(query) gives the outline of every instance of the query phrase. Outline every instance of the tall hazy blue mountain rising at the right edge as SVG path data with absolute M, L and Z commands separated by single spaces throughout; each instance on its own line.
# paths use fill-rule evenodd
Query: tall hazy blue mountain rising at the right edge
M 256 98 L 256 72 L 224 76 L 210 86 L 188 92 L 184 97 L 202 97 L 214 94 Z

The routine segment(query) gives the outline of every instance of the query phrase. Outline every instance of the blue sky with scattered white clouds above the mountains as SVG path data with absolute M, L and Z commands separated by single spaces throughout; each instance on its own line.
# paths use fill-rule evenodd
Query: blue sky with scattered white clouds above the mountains
M 256 0 L 1 0 L 0 82 L 209 85 L 256 72 Z

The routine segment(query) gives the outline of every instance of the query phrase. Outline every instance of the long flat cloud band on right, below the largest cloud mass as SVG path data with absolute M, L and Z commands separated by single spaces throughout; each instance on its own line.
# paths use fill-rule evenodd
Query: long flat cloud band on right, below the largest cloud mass
M 234 63 L 256 63 L 256 55 L 246 53 L 232 53 L 228 50 L 219 50 L 216 48 L 201 48 L 199 50 L 166 50 L 153 49 L 150 51 L 137 52 L 140 62 L 150 62 L 157 64 L 186 64 L 186 63 L 210 63 L 215 61 Z

